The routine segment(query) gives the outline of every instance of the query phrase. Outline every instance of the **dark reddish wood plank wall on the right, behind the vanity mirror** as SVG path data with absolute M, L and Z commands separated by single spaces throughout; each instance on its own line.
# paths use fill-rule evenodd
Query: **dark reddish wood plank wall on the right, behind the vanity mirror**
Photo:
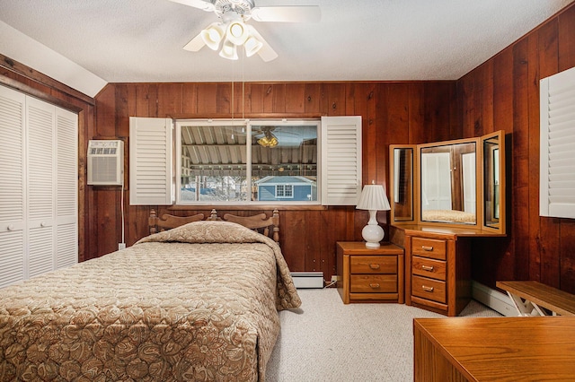
M 505 130 L 509 237 L 473 246 L 473 279 L 575 293 L 575 220 L 539 217 L 539 80 L 575 66 L 575 4 L 457 82 L 464 137 Z

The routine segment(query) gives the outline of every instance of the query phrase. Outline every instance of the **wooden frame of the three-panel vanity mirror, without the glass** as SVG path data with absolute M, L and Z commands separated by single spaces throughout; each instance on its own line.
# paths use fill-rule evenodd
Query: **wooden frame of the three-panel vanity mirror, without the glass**
M 498 226 L 487 225 L 487 221 L 485 221 L 485 177 L 489 176 L 490 173 L 489 169 L 486 169 L 486 163 L 483 159 L 483 152 L 485 150 L 485 145 L 487 141 L 493 140 L 493 138 L 497 138 L 499 140 L 500 150 L 499 150 L 499 173 L 500 173 L 500 189 L 499 189 L 499 197 L 500 197 L 500 221 Z M 421 204 L 420 204 L 420 163 L 421 163 L 421 149 L 425 147 L 433 147 L 433 146 L 444 146 L 448 144 L 457 144 L 457 143 L 475 143 L 476 151 L 475 151 L 475 198 L 476 198 L 476 219 L 474 224 L 462 224 L 456 222 L 442 222 L 442 221 L 421 221 Z M 412 200 L 412 216 L 411 220 L 396 220 L 395 219 L 395 204 L 394 204 L 394 168 L 395 168 L 395 160 L 394 160 L 394 151 L 396 149 L 411 149 L 415 154 L 414 163 L 411 168 L 411 195 L 413 197 Z M 506 187 L 505 187 L 505 132 L 500 130 L 495 133 L 491 133 L 488 135 L 482 135 L 481 137 L 476 138 L 468 138 L 468 139 L 457 139 L 453 141 L 442 141 L 442 142 L 434 142 L 434 143 L 422 143 L 422 144 L 390 144 L 389 146 L 389 164 L 390 164 L 390 187 L 389 187 L 389 196 L 390 196 L 390 205 L 391 205 L 391 224 L 402 226 L 402 225 L 420 225 L 420 226 L 434 226 L 434 227 L 452 227 L 452 228 L 462 228 L 467 230 L 480 230 L 484 232 L 489 232 L 490 234 L 499 234 L 505 235 L 506 233 Z

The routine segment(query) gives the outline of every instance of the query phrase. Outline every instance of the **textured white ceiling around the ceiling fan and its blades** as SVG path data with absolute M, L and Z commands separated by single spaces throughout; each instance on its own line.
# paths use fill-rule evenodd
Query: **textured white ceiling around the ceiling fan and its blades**
M 269 63 L 183 50 L 217 16 L 168 0 L 0 0 L 0 21 L 105 82 L 456 80 L 572 1 L 255 0 L 321 7 L 318 23 L 250 21 Z

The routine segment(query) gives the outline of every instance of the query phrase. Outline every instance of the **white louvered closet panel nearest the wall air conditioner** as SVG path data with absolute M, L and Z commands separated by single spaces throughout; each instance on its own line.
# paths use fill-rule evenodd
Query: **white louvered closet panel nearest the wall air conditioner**
M 78 262 L 78 116 L 56 108 L 56 264 Z

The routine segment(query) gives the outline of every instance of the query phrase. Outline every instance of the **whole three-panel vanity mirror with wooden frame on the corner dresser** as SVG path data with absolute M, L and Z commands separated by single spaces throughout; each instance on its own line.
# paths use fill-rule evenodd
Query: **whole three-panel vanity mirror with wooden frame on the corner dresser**
M 505 135 L 390 146 L 392 224 L 505 234 Z

